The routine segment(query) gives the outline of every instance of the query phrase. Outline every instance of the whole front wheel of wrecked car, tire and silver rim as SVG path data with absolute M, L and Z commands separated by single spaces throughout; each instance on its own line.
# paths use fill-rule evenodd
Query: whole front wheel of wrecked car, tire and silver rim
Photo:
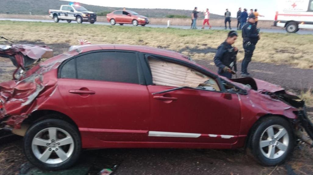
M 265 166 L 285 162 L 294 149 L 295 138 L 289 121 L 270 116 L 258 121 L 250 143 L 254 157 Z

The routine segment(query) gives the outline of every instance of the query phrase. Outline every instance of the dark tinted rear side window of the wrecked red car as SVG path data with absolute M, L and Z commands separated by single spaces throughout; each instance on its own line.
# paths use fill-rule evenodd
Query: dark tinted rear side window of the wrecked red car
M 140 84 L 136 54 L 127 52 L 82 55 L 65 63 L 59 77 Z

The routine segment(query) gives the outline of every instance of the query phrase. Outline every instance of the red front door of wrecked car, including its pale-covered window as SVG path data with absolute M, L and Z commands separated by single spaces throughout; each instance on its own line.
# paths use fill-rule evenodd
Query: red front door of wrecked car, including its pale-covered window
M 220 144 L 237 141 L 240 124 L 237 94 L 222 92 L 215 79 L 186 66 L 147 58 L 152 78 L 152 84 L 147 86 L 151 106 L 149 141 Z M 162 92 L 194 86 L 191 84 L 203 82 L 201 77 L 206 81 L 203 86 Z

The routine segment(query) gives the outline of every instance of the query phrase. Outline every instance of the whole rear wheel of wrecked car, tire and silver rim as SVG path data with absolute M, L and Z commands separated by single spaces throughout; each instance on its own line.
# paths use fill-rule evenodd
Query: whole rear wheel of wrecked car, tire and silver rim
M 72 166 L 81 151 L 77 128 L 58 119 L 39 121 L 24 136 L 24 153 L 33 165 L 45 170 Z

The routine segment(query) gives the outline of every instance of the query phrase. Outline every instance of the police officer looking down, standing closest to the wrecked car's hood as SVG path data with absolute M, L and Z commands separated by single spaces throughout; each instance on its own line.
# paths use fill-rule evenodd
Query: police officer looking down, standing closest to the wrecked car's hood
M 218 46 L 217 52 L 214 57 L 214 63 L 218 67 L 218 74 L 226 78 L 232 78 L 234 71 L 237 71 L 237 53 L 238 49 L 232 45 L 237 40 L 237 32 L 230 31 L 227 39 Z

